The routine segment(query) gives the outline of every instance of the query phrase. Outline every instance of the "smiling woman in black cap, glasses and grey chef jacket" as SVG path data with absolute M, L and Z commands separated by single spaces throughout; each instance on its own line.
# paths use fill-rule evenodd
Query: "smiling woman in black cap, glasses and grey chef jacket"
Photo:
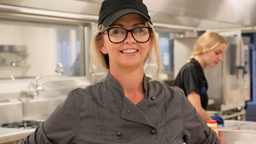
M 180 88 L 154 80 L 159 43 L 142 0 L 104 0 L 90 48 L 92 64 L 107 76 L 69 92 L 19 144 L 219 143 Z M 158 66 L 152 78 L 146 61 Z

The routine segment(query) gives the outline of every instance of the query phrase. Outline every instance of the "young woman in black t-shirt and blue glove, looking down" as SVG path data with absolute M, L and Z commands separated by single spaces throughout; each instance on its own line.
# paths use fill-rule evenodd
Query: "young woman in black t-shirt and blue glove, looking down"
M 222 61 L 222 55 L 226 48 L 226 39 L 217 32 L 209 31 L 202 34 L 197 39 L 192 56 L 181 68 L 173 84 L 173 86 L 183 89 L 205 122 L 214 119 L 222 125 L 224 120 L 220 115 L 210 117 L 205 111 L 208 105 L 206 93 L 208 84 L 203 71 L 207 66 L 215 67 L 219 61 Z

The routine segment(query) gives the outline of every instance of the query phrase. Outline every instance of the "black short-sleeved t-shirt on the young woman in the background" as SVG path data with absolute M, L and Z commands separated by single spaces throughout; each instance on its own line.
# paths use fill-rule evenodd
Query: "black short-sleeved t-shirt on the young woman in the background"
M 208 84 L 203 69 L 197 60 L 192 58 L 189 63 L 181 68 L 173 86 L 178 86 L 183 89 L 186 96 L 190 94 L 192 90 L 195 90 L 195 92 L 200 95 L 203 109 L 206 109 L 208 105 L 208 95 L 206 93 Z

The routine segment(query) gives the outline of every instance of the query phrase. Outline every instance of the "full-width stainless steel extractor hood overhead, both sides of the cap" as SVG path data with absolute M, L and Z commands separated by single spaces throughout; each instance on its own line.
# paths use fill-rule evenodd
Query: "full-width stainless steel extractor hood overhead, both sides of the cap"
M 103 0 L 0 0 L 1 17 L 10 18 L 28 14 L 4 6 L 26 7 L 55 12 L 79 14 L 72 20 L 96 21 Z M 255 29 L 256 1 L 254 0 L 144 0 L 154 26 L 171 29 Z M 12 15 L 10 15 L 12 13 Z M 46 16 L 45 13 L 33 13 Z M 52 15 L 52 14 L 50 14 Z M 89 17 L 94 16 L 94 17 Z M 63 18 L 56 13 L 55 18 Z

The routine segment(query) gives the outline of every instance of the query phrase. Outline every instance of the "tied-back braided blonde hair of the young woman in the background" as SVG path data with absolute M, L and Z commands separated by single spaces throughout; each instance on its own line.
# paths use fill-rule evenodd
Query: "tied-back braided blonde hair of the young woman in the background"
M 194 51 L 187 60 L 187 63 L 189 63 L 191 59 L 194 58 L 196 55 L 201 55 L 210 50 L 213 50 L 222 43 L 225 43 L 227 45 L 225 37 L 221 36 L 220 34 L 214 31 L 205 32 L 197 39 Z

